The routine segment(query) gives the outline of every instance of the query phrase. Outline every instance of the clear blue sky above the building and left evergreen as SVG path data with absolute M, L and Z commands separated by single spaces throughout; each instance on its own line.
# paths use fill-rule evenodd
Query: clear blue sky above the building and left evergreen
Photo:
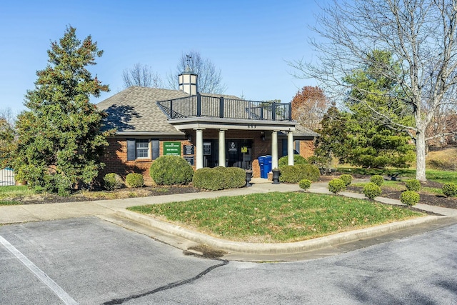
M 322 1 L 321 1 L 322 2 Z M 163 79 L 181 54 L 199 51 L 221 69 L 226 94 L 289 102 L 312 80 L 294 79 L 286 61 L 310 59 L 307 44 L 318 6 L 313 0 L 282 1 L 4 1 L 0 5 L 0 110 L 25 109 L 24 95 L 44 69 L 51 41 L 67 25 L 91 35 L 104 56 L 89 69 L 111 91 L 136 63 Z

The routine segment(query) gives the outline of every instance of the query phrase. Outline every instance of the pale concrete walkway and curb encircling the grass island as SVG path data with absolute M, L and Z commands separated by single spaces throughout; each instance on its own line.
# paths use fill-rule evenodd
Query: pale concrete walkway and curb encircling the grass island
M 354 181 L 357 181 L 355 179 Z M 457 223 L 457 210 L 446 209 L 439 206 L 428 206 L 417 204 L 415 207 L 423 211 L 431 211 L 443 216 L 425 216 L 419 219 L 398 221 L 391 224 L 374 226 L 367 229 L 347 231 L 331 236 L 324 236 L 308 241 L 283 244 L 251 244 L 218 239 L 196 231 L 184 229 L 174 224 L 153 219 L 149 216 L 137 214 L 126 210 L 129 206 L 144 204 L 161 204 L 172 201 L 187 201 L 191 199 L 216 198 L 219 196 L 236 196 L 254 193 L 268 193 L 271 191 L 300 191 L 296 184 L 271 184 L 266 179 L 253 179 L 253 186 L 242 189 L 230 189 L 224 191 L 209 191 L 200 193 L 189 193 L 179 195 L 151 196 L 142 198 L 83 201 L 61 204 L 29 204 L 18 206 L 0 206 L 0 224 L 14 224 L 26 221 L 46 221 L 54 219 L 68 219 L 85 216 L 98 216 L 101 219 L 111 221 L 142 234 L 151 236 L 154 239 L 164 241 L 180 249 L 187 250 L 199 244 L 206 244 L 214 249 L 221 249 L 228 253 L 224 256 L 227 259 L 237 260 L 262 260 L 268 257 L 277 260 L 290 254 L 301 254 L 306 251 L 324 249 L 338 244 L 370 239 L 383 234 L 391 234 L 398 230 L 414 226 L 424 226 L 433 223 Z M 311 185 L 309 192 L 319 194 L 331 194 L 326 182 L 315 182 Z M 363 194 L 341 192 L 343 196 L 363 199 Z M 377 201 L 386 204 L 402 205 L 399 200 L 377 197 Z M 270 256 L 273 254 L 273 256 Z M 246 259 L 249 257 L 251 259 Z M 274 258 L 273 258 L 274 257 Z

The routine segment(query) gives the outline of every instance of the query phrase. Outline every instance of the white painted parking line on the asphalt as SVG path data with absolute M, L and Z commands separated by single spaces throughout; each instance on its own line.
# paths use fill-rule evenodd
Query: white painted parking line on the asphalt
M 26 258 L 24 254 L 16 249 L 12 244 L 9 243 L 6 239 L 0 236 L 0 244 L 2 244 L 6 249 L 8 249 L 14 256 L 16 256 L 19 261 L 21 261 L 24 266 L 26 266 L 35 276 L 42 281 L 49 289 L 51 289 L 56 296 L 59 297 L 64 304 L 76 305 L 78 304 L 69 294 L 67 294 L 64 289 L 61 288 L 55 281 L 53 281 L 47 274 L 45 274 L 41 269 L 39 269 L 34 263 Z

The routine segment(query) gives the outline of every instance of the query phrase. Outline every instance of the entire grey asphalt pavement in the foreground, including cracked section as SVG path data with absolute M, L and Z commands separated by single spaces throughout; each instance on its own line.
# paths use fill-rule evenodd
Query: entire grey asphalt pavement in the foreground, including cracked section
M 221 261 L 97 217 L 0 226 L 0 304 L 456 304 L 457 225 L 287 263 Z

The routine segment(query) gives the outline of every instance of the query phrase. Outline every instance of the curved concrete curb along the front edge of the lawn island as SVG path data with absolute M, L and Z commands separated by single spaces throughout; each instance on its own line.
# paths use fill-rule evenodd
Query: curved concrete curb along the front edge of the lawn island
M 380 226 L 373 226 L 365 229 L 346 231 L 306 241 L 297 241 L 293 243 L 283 244 L 251 244 L 246 242 L 218 239 L 213 236 L 191 231 L 181 226 L 170 224 L 168 222 L 154 219 L 143 214 L 138 214 L 133 211 L 119 210 L 116 211 L 116 214 L 131 221 L 136 221 L 139 224 L 151 226 L 154 229 L 158 229 L 169 234 L 174 234 L 176 236 L 181 236 L 184 239 L 189 239 L 190 241 L 195 241 L 199 244 L 206 244 L 215 249 L 241 252 L 246 254 L 296 254 L 304 251 L 323 249 L 328 246 L 336 246 L 338 244 L 357 241 L 359 239 L 368 237 L 380 236 L 383 234 L 391 233 L 393 231 L 406 229 L 420 224 L 427 224 L 438 219 L 446 218 L 446 216 L 424 216 L 418 219 L 409 219 L 405 221 L 393 222 L 390 224 L 382 224 Z

